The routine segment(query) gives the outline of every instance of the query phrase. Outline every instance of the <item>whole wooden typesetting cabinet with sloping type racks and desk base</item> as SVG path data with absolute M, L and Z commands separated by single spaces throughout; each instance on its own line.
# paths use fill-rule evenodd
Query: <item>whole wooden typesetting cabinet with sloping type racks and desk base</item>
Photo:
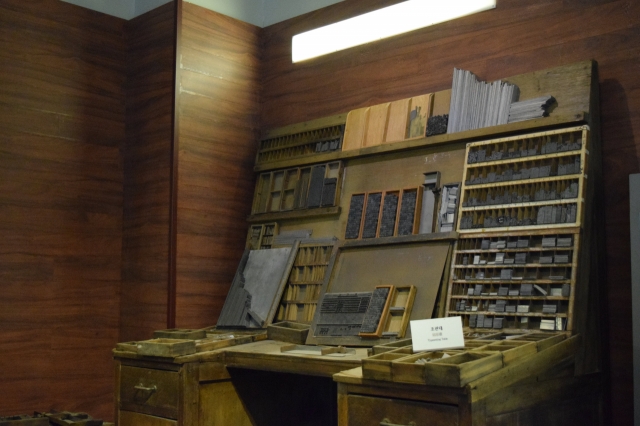
M 300 251 L 261 327 L 309 334 L 291 352 L 123 344 L 118 425 L 599 424 L 596 63 L 505 81 L 557 103 L 547 117 L 415 136 L 449 112 L 445 90 L 267 131 L 246 247 Z M 319 321 L 326 295 L 381 286 L 412 291 L 393 333 L 335 337 L 363 320 Z M 414 353 L 409 318 L 445 316 L 462 318 L 465 347 Z

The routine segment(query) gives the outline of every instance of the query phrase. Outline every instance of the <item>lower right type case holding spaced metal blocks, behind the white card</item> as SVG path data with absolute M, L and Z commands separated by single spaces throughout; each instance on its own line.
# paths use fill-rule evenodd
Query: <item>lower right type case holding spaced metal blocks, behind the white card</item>
M 576 228 L 461 235 L 447 316 L 472 329 L 571 331 L 579 240 Z

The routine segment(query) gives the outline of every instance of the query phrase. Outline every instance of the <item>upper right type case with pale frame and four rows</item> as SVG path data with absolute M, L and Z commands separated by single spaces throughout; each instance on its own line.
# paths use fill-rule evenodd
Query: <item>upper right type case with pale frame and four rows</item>
M 580 226 L 589 127 L 467 144 L 458 232 Z

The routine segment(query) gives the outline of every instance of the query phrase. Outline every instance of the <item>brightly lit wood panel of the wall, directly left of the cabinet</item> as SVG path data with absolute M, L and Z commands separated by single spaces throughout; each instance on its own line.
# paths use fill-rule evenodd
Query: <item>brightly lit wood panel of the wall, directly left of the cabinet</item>
M 259 114 L 260 29 L 183 4 L 176 326 L 216 323 L 244 249 Z

